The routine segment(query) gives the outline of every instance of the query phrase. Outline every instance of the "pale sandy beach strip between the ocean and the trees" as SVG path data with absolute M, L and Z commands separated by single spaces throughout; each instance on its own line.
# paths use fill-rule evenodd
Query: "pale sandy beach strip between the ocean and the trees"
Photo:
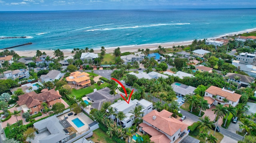
M 232 32 L 232 33 L 227 33 L 227 34 L 223 34 L 217 37 L 211 37 L 211 38 L 206 38 L 206 39 L 216 39 L 216 38 L 220 38 L 220 37 L 224 37 L 224 36 L 232 36 L 232 35 L 238 35 L 238 34 L 242 34 L 242 33 L 249 33 L 252 31 L 256 31 L 256 28 L 252 28 L 252 29 L 245 29 L 244 31 L 237 31 L 237 32 Z M 199 40 L 199 39 L 198 39 Z M 203 39 L 201 39 L 203 40 Z M 116 49 L 117 47 L 120 47 L 120 51 L 122 53 L 124 52 L 136 52 L 138 49 L 150 49 L 150 50 L 155 50 L 157 49 L 157 47 L 159 45 L 161 45 L 164 48 L 170 48 L 173 46 L 182 46 L 182 45 L 191 45 L 192 41 L 182 41 L 182 42 L 168 42 L 168 43 L 154 43 L 154 44 L 142 44 L 142 45 L 127 45 L 127 46 L 116 46 L 116 47 L 105 47 L 106 49 L 106 53 L 113 53 L 114 49 Z M 61 50 L 64 53 L 64 56 L 70 56 L 72 55 L 71 51 L 73 49 L 64 49 Z M 0 52 L 2 52 L 4 50 L 0 50 Z M 10 50 L 9 50 L 10 51 Z M 54 55 L 54 50 L 40 50 L 41 52 L 45 52 L 46 54 L 53 56 Z M 36 50 L 32 50 L 32 51 L 15 51 L 20 57 L 34 57 L 36 55 Z M 94 53 L 100 53 L 100 49 L 94 49 Z

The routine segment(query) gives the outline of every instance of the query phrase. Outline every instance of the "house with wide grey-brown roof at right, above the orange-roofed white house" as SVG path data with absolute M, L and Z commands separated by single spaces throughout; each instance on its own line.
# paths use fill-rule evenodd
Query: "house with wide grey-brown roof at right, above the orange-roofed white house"
M 230 73 L 228 72 L 225 77 L 228 77 L 228 81 L 232 80 L 238 84 L 240 87 L 251 87 L 250 84 L 254 83 L 255 78 L 243 74 Z M 239 77 L 239 79 L 235 79 Z

